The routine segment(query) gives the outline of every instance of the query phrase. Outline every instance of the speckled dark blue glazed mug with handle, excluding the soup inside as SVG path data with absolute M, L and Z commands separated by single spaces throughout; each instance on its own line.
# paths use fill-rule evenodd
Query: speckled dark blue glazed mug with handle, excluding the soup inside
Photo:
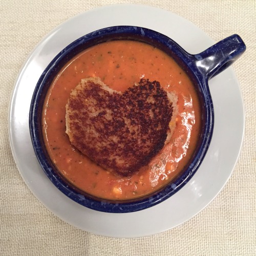
M 154 45 L 172 56 L 195 84 L 202 103 L 203 120 L 202 133 L 197 150 L 182 175 L 173 180 L 172 183 L 168 184 L 157 194 L 126 203 L 106 202 L 93 198 L 63 179 L 58 174 L 57 169 L 47 154 L 41 131 L 42 104 L 54 76 L 61 67 L 84 49 L 106 40 L 117 39 L 143 41 L 147 44 Z M 177 193 L 196 173 L 209 147 L 214 127 L 214 106 L 208 88 L 208 80 L 231 65 L 245 49 L 246 47 L 242 39 L 238 35 L 232 35 L 202 53 L 191 55 L 165 35 L 149 29 L 132 26 L 110 27 L 82 36 L 63 49 L 51 61 L 40 76 L 32 97 L 29 115 L 30 133 L 34 150 L 42 169 L 44 169 L 46 175 L 62 193 L 75 202 L 94 210 L 115 213 L 133 212 L 152 207 L 166 200 Z

